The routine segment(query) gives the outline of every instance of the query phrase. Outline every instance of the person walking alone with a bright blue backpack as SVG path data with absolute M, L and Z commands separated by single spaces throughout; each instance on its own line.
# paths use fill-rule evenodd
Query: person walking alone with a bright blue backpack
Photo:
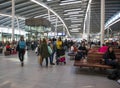
M 26 42 L 24 41 L 24 36 L 21 36 L 17 45 L 17 51 L 22 67 L 24 66 L 25 48 L 26 48 Z

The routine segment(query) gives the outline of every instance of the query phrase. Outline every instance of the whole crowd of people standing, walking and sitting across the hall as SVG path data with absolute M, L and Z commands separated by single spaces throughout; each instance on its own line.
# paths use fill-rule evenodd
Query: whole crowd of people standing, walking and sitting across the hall
M 25 50 L 33 50 L 39 56 L 40 66 L 43 66 L 43 61 L 46 61 L 46 67 L 50 65 L 58 65 L 60 62 L 60 58 L 62 58 L 61 62 L 66 64 L 65 60 L 65 52 L 74 53 L 75 60 L 87 59 L 87 55 L 91 52 L 92 46 L 99 46 L 99 43 L 87 42 L 87 40 L 82 40 L 81 42 L 75 42 L 73 40 L 64 41 L 59 37 L 55 38 L 43 38 L 36 41 L 28 41 L 24 40 L 24 37 L 21 36 L 18 42 L 0 42 L 0 47 L 5 47 L 6 51 L 9 51 L 10 54 L 18 51 L 19 60 L 21 62 L 21 66 L 24 66 L 24 54 Z M 117 73 L 117 77 L 120 78 L 120 64 L 118 63 L 118 59 L 116 58 L 113 47 L 120 48 L 119 42 L 106 42 L 100 47 L 96 52 L 103 53 L 103 60 L 106 65 L 113 66 L 116 70 L 114 73 Z M 55 60 L 54 60 L 55 56 Z M 64 58 L 64 59 L 63 59 Z M 54 62 L 56 61 L 56 62 Z

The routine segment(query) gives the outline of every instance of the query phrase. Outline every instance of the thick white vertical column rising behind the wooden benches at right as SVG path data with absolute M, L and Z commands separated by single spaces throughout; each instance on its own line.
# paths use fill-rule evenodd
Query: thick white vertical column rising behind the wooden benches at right
M 105 29 L 105 0 L 101 0 L 101 46 L 104 43 Z

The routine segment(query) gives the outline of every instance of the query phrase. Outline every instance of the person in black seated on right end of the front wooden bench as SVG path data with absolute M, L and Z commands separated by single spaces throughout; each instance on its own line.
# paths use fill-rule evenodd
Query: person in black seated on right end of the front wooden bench
M 116 59 L 116 56 L 112 47 L 108 47 L 107 52 L 103 56 L 103 59 L 106 65 L 113 66 L 114 68 L 119 68 L 118 60 Z

